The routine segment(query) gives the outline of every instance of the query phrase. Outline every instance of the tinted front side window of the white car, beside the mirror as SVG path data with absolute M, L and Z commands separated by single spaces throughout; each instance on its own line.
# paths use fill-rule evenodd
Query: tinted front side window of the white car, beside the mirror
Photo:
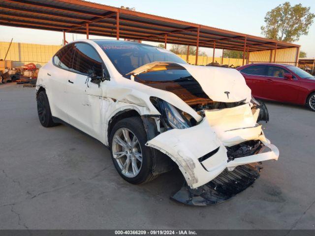
M 95 49 L 86 43 L 76 43 L 73 57 L 73 72 L 82 74 L 96 74 L 102 76 L 102 59 Z

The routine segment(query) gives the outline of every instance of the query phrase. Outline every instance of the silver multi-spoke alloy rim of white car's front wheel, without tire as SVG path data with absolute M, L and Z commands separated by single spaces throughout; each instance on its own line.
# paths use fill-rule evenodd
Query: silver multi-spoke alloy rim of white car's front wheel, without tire
M 142 167 L 142 150 L 135 134 L 127 129 L 118 129 L 112 142 L 112 152 L 124 176 L 136 177 Z

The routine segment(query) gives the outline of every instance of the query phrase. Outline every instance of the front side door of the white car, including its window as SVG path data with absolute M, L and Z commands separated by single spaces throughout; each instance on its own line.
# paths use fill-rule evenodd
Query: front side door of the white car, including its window
M 69 123 L 102 140 L 101 106 L 103 91 L 91 82 L 91 75 L 103 75 L 103 61 L 88 43 L 76 43 L 72 71 L 66 84 Z

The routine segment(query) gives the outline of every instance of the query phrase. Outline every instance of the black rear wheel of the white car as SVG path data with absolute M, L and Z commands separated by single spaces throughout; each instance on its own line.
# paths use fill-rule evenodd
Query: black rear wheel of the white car
M 38 114 L 39 122 L 41 123 L 41 125 L 46 128 L 58 125 L 58 123 L 55 123 L 53 121 L 46 92 L 45 91 L 39 92 L 36 100 L 37 100 L 37 114 Z

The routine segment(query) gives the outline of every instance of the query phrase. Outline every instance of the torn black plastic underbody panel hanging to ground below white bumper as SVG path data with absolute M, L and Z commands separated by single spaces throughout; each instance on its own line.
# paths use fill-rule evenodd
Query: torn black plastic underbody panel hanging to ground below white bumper
M 261 163 L 237 166 L 234 171 L 224 170 L 218 177 L 196 189 L 184 186 L 171 199 L 192 206 L 215 205 L 244 191 L 260 176 Z

